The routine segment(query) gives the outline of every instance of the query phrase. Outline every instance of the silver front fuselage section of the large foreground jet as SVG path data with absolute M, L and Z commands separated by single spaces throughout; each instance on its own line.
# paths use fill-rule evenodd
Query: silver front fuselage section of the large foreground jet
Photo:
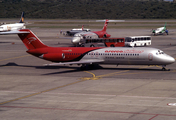
M 106 47 L 87 53 L 81 60 L 100 59 L 101 64 L 168 65 L 175 59 L 163 51 L 148 47 Z

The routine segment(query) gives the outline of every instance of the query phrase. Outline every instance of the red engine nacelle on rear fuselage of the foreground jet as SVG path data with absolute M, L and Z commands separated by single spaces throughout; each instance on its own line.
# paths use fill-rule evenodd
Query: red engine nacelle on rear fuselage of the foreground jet
M 40 58 L 43 58 L 45 60 L 49 60 L 52 62 L 60 62 L 63 59 L 65 59 L 65 54 L 64 53 L 47 53 L 47 54 L 43 54 L 42 56 L 40 56 Z

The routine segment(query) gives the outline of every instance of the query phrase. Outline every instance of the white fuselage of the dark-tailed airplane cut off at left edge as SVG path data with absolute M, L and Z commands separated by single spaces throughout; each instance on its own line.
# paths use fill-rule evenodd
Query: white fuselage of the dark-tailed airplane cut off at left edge
M 0 32 L 24 29 L 25 23 L 4 24 L 0 26 Z

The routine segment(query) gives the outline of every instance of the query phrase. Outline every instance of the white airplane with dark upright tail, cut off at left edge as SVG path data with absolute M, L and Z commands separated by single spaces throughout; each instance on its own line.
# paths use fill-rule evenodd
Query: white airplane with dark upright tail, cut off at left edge
M 0 34 L 3 34 L 4 32 L 9 32 L 10 31 L 17 31 L 20 29 L 26 28 L 25 23 L 24 23 L 24 12 L 21 14 L 21 19 L 19 23 L 13 23 L 13 24 L 3 24 L 0 26 Z

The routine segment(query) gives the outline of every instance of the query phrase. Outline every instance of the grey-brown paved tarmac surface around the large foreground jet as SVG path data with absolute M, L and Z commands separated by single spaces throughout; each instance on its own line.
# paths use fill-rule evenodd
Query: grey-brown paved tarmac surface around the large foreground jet
M 72 46 L 61 29 L 32 31 L 49 46 Z M 174 30 L 174 29 L 173 29 Z M 150 35 L 108 29 L 113 37 Z M 176 33 L 152 36 L 152 46 L 176 58 Z M 2 120 L 175 120 L 176 63 L 161 66 L 53 66 L 27 54 L 17 35 L 0 36 Z

